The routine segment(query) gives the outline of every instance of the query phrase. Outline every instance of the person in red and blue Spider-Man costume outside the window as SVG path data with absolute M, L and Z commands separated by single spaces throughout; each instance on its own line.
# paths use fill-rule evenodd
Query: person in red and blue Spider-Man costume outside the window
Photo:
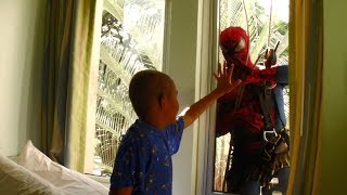
M 282 90 L 288 84 L 287 66 L 271 66 L 275 64 L 271 61 L 268 68 L 259 69 L 255 66 L 248 55 L 249 37 L 241 27 L 232 26 L 224 29 L 219 36 L 219 41 L 227 65 L 234 64 L 233 79 L 241 79 L 243 84 L 217 102 L 216 135 L 221 136 L 229 132 L 234 135 L 232 166 L 227 177 L 228 192 L 260 194 L 260 185 L 268 186 L 275 162 L 271 160 L 270 166 L 261 160 L 265 147 L 262 139 L 265 121 L 259 92 L 265 88 L 265 81 L 273 89 L 273 106 L 268 114 L 273 128 L 280 133 L 286 125 Z M 288 144 L 288 138 L 286 142 Z M 280 164 L 280 167 L 283 166 L 288 167 L 288 162 Z M 281 174 L 279 176 L 281 185 L 275 190 L 285 194 L 288 168 L 277 168 L 277 170 Z

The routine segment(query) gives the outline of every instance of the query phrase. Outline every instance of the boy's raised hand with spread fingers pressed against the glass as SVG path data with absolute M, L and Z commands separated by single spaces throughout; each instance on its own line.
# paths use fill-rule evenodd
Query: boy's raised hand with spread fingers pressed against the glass
M 233 64 L 230 66 L 230 68 L 227 68 L 227 62 L 223 63 L 223 66 L 218 63 L 218 74 L 214 73 L 214 76 L 217 79 L 216 90 L 220 91 L 221 93 L 228 93 L 241 83 L 240 79 L 236 81 L 232 79 L 233 69 Z

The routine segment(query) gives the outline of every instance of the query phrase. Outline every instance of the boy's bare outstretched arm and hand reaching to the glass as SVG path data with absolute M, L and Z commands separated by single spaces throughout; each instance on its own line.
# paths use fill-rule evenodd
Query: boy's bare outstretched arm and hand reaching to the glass
M 208 93 L 206 96 L 194 103 L 190 106 L 187 113 L 183 115 L 184 128 L 190 126 L 198 118 L 201 114 L 203 114 L 209 105 L 215 102 L 217 99 L 222 96 L 223 94 L 233 90 L 237 84 L 241 83 L 241 80 L 233 81 L 232 72 L 233 65 L 227 69 L 227 64 L 224 63 L 223 67 L 218 64 L 218 74 L 214 73 L 215 78 L 217 79 L 217 88 Z

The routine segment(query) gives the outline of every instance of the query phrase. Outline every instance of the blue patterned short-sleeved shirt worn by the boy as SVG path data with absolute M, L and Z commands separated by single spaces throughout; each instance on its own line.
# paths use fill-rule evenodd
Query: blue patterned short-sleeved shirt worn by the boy
M 133 187 L 132 194 L 172 193 L 171 156 L 179 150 L 183 118 L 163 129 L 137 120 L 118 148 L 111 187 Z

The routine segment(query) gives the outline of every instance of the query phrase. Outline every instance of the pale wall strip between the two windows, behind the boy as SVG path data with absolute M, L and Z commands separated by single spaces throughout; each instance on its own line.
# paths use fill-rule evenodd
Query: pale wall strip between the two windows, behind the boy
M 172 77 L 179 93 L 180 108 L 194 103 L 197 36 L 197 0 L 166 1 L 167 22 L 166 63 L 163 72 Z M 165 58 L 165 57 L 164 57 Z M 165 60 L 164 60 L 165 61 Z M 189 195 L 192 186 L 193 128 L 183 132 L 179 152 L 174 156 L 174 195 Z

